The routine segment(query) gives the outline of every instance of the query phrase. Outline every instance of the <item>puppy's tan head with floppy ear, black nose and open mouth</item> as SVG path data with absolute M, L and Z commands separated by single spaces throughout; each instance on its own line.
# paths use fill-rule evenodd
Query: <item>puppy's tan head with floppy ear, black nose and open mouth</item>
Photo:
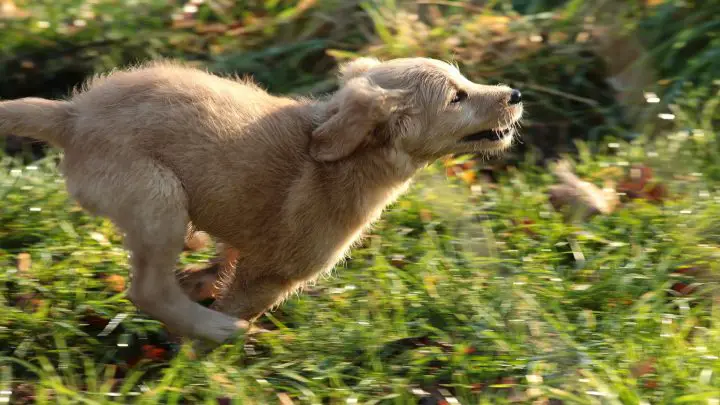
M 419 161 L 498 153 L 512 144 L 522 112 L 518 90 L 473 83 L 448 63 L 361 58 L 341 67 L 310 153 L 326 162 L 368 149 Z

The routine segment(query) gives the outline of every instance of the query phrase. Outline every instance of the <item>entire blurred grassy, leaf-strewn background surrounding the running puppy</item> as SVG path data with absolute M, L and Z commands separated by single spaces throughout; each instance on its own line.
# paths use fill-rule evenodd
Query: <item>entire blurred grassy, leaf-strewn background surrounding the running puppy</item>
M 0 99 L 155 58 L 336 88 L 427 56 L 523 92 L 331 277 L 196 358 L 125 299 L 59 155 L 0 138 L 0 403 L 720 404 L 719 0 L 0 0 Z M 179 266 L 205 263 L 212 243 Z

